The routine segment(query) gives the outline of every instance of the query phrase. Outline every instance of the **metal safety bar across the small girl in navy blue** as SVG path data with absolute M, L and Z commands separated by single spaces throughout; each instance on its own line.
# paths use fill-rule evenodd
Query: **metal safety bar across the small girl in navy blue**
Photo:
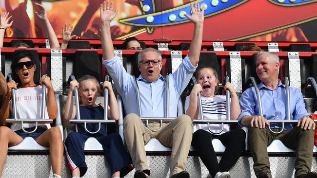
M 69 81 L 76 80 L 74 75 L 69 76 Z M 105 76 L 105 81 L 109 80 L 109 76 Z M 104 111 L 103 111 L 103 120 L 95 120 L 95 119 L 81 119 L 80 117 L 80 110 L 79 110 L 79 93 L 78 93 L 78 88 L 75 87 L 74 89 L 75 93 L 75 107 L 76 107 L 76 119 L 71 119 L 69 120 L 70 124 L 84 124 L 85 131 L 90 133 L 90 134 L 95 134 L 98 133 L 101 124 L 114 124 L 116 123 L 115 120 L 108 120 L 108 94 L 109 91 L 108 89 L 104 89 Z M 98 124 L 98 130 L 96 132 L 91 132 L 87 129 L 87 124 Z

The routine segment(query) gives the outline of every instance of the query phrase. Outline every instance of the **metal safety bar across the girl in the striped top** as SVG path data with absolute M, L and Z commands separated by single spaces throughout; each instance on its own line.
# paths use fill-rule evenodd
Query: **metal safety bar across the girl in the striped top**
M 193 83 L 196 85 L 197 81 L 196 78 L 193 76 L 192 77 Z M 229 82 L 230 79 L 228 76 L 225 76 L 224 78 L 225 83 Z M 203 111 L 202 111 L 202 104 L 201 104 L 201 94 L 198 93 L 198 109 L 199 109 L 199 117 L 200 120 L 193 120 L 193 124 L 207 124 L 208 125 L 208 130 L 210 133 L 214 135 L 219 135 L 223 129 L 224 129 L 224 124 L 237 124 L 238 120 L 233 120 L 231 121 L 231 115 L 230 115 L 230 91 L 226 90 L 226 120 L 204 120 L 203 117 Z M 210 129 L 210 124 L 221 124 L 221 129 L 218 132 L 213 132 Z

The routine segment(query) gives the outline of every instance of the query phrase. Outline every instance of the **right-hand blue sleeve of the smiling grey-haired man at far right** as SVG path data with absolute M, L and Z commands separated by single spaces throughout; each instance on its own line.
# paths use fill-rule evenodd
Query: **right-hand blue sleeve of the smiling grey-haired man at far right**
M 309 116 L 310 114 L 307 112 L 304 98 L 301 92 L 298 89 L 295 89 L 295 94 L 293 96 L 296 96 L 296 104 L 295 104 L 295 110 L 293 112 L 293 118 L 295 120 L 301 119 L 304 116 Z

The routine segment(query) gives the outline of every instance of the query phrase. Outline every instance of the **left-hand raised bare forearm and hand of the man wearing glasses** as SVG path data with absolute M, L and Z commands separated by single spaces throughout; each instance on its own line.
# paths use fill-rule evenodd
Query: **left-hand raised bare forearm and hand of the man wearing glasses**
M 102 57 L 105 60 L 112 59 L 115 56 L 115 51 L 111 39 L 110 22 L 116 17 L 118 10 L 113 11 L 113 3 L 103 1 L 100 4 L 101 18 L 101 46 Z

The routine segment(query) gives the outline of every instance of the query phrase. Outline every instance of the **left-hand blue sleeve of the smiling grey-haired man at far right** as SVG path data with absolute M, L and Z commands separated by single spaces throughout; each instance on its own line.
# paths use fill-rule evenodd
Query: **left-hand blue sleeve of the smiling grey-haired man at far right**
M 252 92 L 253 88 L 245 90 L 240 97 L 241 114 L 238 117 L 238 123 L 241 125 L 241 120 L 244 116 L 254 116 L 256 101 Z

